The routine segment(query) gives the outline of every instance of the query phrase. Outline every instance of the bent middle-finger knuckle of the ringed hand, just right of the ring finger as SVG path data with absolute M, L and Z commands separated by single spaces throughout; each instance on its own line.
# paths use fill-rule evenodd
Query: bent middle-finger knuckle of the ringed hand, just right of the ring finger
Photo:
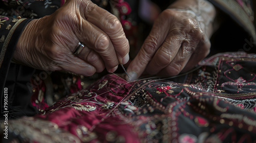
M 95 40 L 95 50 L 102 52 L 108 50 L 108 47 L 110 45 L 110 39 L 105 36 L 101 35 Z

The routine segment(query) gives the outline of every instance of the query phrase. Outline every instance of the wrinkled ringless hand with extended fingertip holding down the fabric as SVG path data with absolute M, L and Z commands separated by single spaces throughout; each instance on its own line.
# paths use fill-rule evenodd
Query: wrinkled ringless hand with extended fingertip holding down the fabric
M 210 51 L 215 15 L 215 7 L 204 0 L 178 0 L 164 10 L 127 68 L 130 79 L 143 71 L 175 76 L 193 68 Z

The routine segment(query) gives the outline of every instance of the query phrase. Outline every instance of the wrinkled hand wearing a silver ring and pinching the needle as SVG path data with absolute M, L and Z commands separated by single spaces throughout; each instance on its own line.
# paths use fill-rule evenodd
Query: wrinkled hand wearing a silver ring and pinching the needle
M 72 52 L 82 42 L 78 56 Z M 33 19 L 20 36 L 13 60 L 44 70 L 90 76 L 129 61 L 129 42 L 118 18 L 89 0 L 68 0 L 49 16 Z

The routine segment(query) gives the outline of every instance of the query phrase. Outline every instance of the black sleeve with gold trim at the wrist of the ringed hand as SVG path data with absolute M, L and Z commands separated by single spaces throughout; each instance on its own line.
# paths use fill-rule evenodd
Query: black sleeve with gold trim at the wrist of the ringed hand
M 52 14 L 62 0 L 0 0 L 0 101 L 1 112 L 5 111 L 4 89 L 8 88 L 9 117 L 14 118 L 36 113 L 31 103 L 31 90 L 27 87 L 34 75 L 34 68 L 11 63 L 20 34 L 27 23 Z M 18 19 L 19 18 L 19 19 Z M 28 19 L 26 19 L 28 18 Z M 0 115 L 0 119 L 2 118 Z

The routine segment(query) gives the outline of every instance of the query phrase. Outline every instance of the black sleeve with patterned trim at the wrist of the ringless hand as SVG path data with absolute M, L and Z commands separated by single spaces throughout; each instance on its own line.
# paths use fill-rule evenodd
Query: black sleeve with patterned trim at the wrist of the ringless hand
M 254 11 L 250 0 L 208 0 L 218 11 L 219 29 L 211 36 L 211 53 L 256 53 Z

